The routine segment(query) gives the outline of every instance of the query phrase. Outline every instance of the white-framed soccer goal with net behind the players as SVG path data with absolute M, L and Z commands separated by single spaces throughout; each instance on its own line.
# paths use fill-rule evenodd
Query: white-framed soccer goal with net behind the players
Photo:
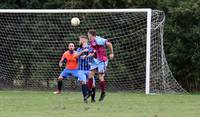
M 72 26 L 73 17 L 80 25 Z M 0 10 L 0 87 L 55 88 L 69 42 L 89 29 L 113 43 L 106 74 L 111 91 L 185 92 L 163 49 L 165 14 L 151 9 Z M 68 89 L 77 89 L 68 80 Z

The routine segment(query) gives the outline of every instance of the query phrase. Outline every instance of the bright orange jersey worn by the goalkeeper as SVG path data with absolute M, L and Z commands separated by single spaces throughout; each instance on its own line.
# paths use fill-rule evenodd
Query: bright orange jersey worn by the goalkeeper
M 63 61 L 64 59 L 66 59 L 66 68 L 67 69 L 78 69 L 78 60 L 77 60 L 78 56 L 76 54 L 76 52 L 74 51 L 73 54 L 70 54 L 69 51 L 66 51 L 62 58 L 61 61 Z

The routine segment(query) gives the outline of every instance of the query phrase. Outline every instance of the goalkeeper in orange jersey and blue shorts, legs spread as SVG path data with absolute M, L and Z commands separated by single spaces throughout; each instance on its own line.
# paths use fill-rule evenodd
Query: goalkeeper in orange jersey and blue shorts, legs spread
M 58 89 L 56 92 L 54 92 L 54 94 L 60 94 L 61 93 L 61 90 L 62 90 L 62 80 L 64 78 L 69 78 L 69 76 L 74 76 L 76 78 L 78 78 L 79 81 L 81 81 L 83 78 L 82 78 L 82 75 L 79 75 L 78 73 L 78 57 L 83 53 L 83 52 L 87 52 L 88 50 L 87 49 L 84 49 L 82 52 L 79 52 L 77 53 L 75 50 L 74 50 L 74 44 L 73 43 L 70 43 L 68 45 L 68 51 L 66 51 L 60 62 L 59 62 L 59 66 L 62 67 L 63 65 L 63 62 L 64 60 L 66 60 L 66 67 L 65 69 L 60 73 L 60 76 L 58 77 L 57 79 L 57 86 L 58 86 Z

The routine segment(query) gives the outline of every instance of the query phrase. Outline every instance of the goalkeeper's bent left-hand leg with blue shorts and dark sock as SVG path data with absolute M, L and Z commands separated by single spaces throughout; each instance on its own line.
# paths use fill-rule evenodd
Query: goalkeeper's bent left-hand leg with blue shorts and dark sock
M 62 91 L 62 80 L 64 78 L 68 77 L 68 71 L 67 69 L 64 69 L 61 73 L 60 76 L 57 78 L 57 91 L 54 92 L 54 94 L 60 94 Z

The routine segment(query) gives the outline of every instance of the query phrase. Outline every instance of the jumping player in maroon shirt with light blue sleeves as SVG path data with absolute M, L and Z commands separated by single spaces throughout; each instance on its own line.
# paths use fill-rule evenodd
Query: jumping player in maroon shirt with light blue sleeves
M 88 80 L 88 89 L 89 94 L 85 96 L 85 99 L 88 99 L 92 95 L 92 85 L 93 85 L 93 77 L 95 73 L 99 74 L 99 86 L 101 95 L 99 101 L 103 101 L 105 97 L 105 71 L 108 64 L 108 58 L 106 55 L 106 47 L 110 49 L 110 59 L 113 59 L 113 46 L 112 43 L 108 42 L 107 39 L 96 36 L 96 30 L 88 31 L 88 38 L 90 40 L 90 47 L 93 49 L 90 51 L 89 56 L 94 55 L 93 62 L 91 64 L 90 75 Z

